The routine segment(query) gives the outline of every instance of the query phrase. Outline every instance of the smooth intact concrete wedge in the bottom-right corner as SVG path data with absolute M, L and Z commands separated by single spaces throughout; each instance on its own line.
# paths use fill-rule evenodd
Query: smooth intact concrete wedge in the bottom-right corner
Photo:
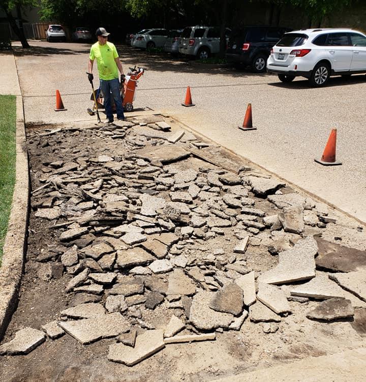
M 365 380 L 366 349 L 345 350 L 286 365 L 231 375 L 212 382 L 361 382 Z

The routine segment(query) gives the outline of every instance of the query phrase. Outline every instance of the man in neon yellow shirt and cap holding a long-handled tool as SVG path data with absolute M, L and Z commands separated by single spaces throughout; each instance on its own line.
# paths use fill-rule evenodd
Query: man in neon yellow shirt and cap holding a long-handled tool
M 121 82 L 123 82 L 124 72 L 119 61 L 117 49 L 108 41 L 108 33 L 105 28 L 100 27 L 96 31 L 98 41 L 90 48 L 88 61 L 88 79 L 92 83 L 94 76 L 93 64 L 97 60 L 98 73 L 100 79 L 100 90 L 104 95 L 104 107 L 107 115 L 107 124 L 113 123 L 113 112 L 111 105 L 111 96 L 117 112 L 118 120 L 125 120 L 122 99 L 119 91 L 118 71 L 121 74 Z

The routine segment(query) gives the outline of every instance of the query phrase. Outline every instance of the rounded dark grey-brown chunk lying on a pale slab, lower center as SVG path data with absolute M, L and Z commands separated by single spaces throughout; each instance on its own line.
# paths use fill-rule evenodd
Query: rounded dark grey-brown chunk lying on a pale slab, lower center
M 215 293 L 209 307 L 218 312 L 239 315 L 243 309 L 243 292 L 235 282 L 226 284 Z

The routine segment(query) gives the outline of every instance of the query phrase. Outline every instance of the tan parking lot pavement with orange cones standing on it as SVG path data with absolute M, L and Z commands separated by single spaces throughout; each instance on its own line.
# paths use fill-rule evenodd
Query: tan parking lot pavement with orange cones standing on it
M 14 44 L 16 45 L 16 44 Z M 85 72 L 88 44 L 31 42 L 29 52 L 15 49 L 26 123 L 56 124 L 95 121 L 91 87 Z M 118 46 L 125 72 L 146 68 L 140 78 L 134 108 L 151 108 L 180 122 L 283 179 L 317 195 L 366 222 L 366 76 L 333 77 L 328 86 L 313 89 L 306 79 L 281 83 L 277 76 L 202 65 L 149 55 Z M 95 87 L 98 85 L 94 70 Z M 187 86 L 194 107 L 184 107 Z M 66 111 L 54 111 L 59 90 Z M 242 131 L 248 103 L 253 125 Z M 128 114 L 127 114 L 128 115 Z M 321 157 L 332 128 L 338 129 L 337 160 L 342 166 L 322 166 Z

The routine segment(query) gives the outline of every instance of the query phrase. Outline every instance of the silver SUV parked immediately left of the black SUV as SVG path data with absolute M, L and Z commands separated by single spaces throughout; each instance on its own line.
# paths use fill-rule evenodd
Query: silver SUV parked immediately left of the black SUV
M 226 28 L 226 37 L 230 30 Z M 184 28 L 179 42 L 179 53 L 208 58 L 220 51 L 220 30 L 214 26 L 196 25 Z

